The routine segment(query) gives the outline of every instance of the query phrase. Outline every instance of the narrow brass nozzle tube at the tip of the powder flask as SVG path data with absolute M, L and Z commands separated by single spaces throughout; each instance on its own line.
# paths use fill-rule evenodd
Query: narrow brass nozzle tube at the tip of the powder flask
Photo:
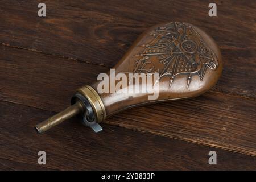
M 82 111 L 84 111 L 84 107 L 80 101 L 77 101 L 74 105 L 69 106 L 67 109 L 36 125 L 36 132 L 43 133 L 44 131 L 51 129 L 51 127 L 59 125 L 61 122 L 81 113 Z

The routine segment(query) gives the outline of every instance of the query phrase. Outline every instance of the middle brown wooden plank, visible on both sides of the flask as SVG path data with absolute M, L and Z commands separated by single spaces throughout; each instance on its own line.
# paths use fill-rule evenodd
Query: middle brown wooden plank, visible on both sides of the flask
M 97 73 L 107 69 L 5 46 L 1 46 L 0 55 L 0 100 L 50 111 L 67 107 L 76 88 L 90 84 Z M 256 155 L 255 107 L 254 100 L 208 92 L 192 100 L 127 110 L 106 122 Z

